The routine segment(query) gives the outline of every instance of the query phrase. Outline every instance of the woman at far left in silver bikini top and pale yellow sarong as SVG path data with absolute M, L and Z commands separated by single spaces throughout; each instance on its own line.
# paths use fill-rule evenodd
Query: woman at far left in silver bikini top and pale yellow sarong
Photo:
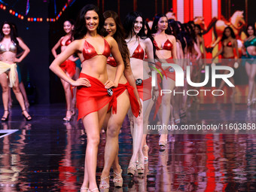
M 23 96 L 19 88 L 19 78 L 17 75 L 16 62 L 21 62 L 29 53 L 29 47 L 18 37 L 14 32 L 11 23 L 5 21 L 2 23 L 0 31 L 0 83 L 2 86 L 2 99 L 5 108 L 5 113 L 2 121 L 7 121 L 9 117 L 8 111 L 8 85 L 13 88 L 17 101 L 20 103 L 23 116 L 26 120 L 32 120 L 29 113 L 26 111 Z M 17 58 L 17 47 L 20 46 L 24 52 Z

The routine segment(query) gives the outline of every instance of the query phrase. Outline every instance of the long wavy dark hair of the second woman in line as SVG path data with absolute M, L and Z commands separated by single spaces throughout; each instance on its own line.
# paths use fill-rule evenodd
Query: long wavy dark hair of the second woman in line
M 126 62 L 126 59 L 129 58 L 129 50 L 126 44 L 126 41 L 124 40 L 125 32 L 122 26 L 122 23 L 120 22 L 120 18 L 118 17 L 118 14 L 114 11 L 105 11 L 103 13 L 104 19 L 113 18 L 114 23 L 117 26 L 117 31 L 114 33 L 113 38 L 115 41 L 117 41 L 121 56 L 123 58 L 124 66 L 127 66 L 128 63 Z

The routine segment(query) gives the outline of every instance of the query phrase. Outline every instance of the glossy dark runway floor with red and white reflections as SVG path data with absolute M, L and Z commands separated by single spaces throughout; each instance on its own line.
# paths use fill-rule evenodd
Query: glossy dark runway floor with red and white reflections
M 87 144 L 81 121 L 62 120 L 65 105 L 32 105 L 26 122 L 19 106 L 1 123 L 1 131 L 17 130 L 0 139 L 0 191 L 79 191 L 84 178 Z M 1 114 L 2 115 L 2 114 Z M 209 102 L 187 110 L 186 122 L 245 120 L 256 123 L 256 106 Z M 183 119 L 184 120 L 184 119 Z M 255 132 L 254 132 L 255 133 Z M 0 135 L 1 136 L 1 135 Z M 99 145 L 97 181 L 103 167 L 105 134 Z M 109 191 L 256 191 L 256 135 L 178 134 L 160 150 L 158 135 L 149 135 L 149 161 L 144 175 L 127 175 L 132 154 L 130 125 L 120 133 L 123 187 Z

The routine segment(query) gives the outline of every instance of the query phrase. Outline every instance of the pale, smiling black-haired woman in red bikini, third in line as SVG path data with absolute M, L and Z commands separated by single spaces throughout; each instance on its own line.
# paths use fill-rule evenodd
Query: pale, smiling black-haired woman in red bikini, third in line
M 145 22 L 142 18 L 142 14 L 136 11 L 127 14 L 123 26 L 127 32 L 126 44 L 130 50 L 130 66 L 133 71 L 133 76 L 136 79 L 139 98 L 143 106 L 143 115 L 139 117 L 134 117 L 133 114 L 128 113 L 133 136 L 133 155 L 127 172 L 130 175 L 134 175 L 136 171 L 139 174 L 143 174 L 145 171 L 145 159 L 142 152 L 142 145 L 144 143 L 142 138 L 143 126 L 148 123 L 148 119 L 145 118 L 145 111 L 148 110 L 148 106 L 151 102 L 151 78 L 148 75 L 151 69 L 148 66 L 148 62 L 144 62 L 143 59 L 145 59 L 145 54 L 148 55 L 148 59 L 153 59 L 154 53 L 151 40 L 144 38 Z M 136 163 L 137 160 L 139 162 L 138 164 Z

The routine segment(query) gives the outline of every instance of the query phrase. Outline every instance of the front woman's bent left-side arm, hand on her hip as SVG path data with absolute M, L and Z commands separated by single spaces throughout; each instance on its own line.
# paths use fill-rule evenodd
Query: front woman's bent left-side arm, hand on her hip
M 59 67 L 62 62 L 66 61 L 66 59 L 69 58 L 69 56 L 72 56 L 72 54 L 78 52 L 78 48 L 80 47 L 79 41 L 73 41 L 71 44 L 69 44 L 68 47 L 62 53 L 59 54 L 59 56 L 56 57 L 56 59 L 53 60 L 53 62 L 50 64 L 50 70 L 55 73 L 59 78 L 62 78 L 62 80 L 68 82 L 72 86 L 86 86 L 90 87 L 90 81 L 88 81 L 86 78 L 78 78 L 77 81 L 72 80 L 72 78 L 69 78 L 68 75 L 66 75 L 65 72 L 62 71 L 62 69 Z

